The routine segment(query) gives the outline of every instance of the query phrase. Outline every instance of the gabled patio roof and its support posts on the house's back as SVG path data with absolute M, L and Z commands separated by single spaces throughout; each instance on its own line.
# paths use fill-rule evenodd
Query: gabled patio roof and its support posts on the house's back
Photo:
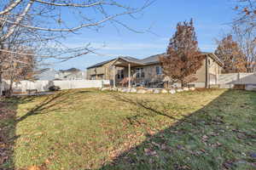
M 113 62 L 113 88 L 116 88 L 117 67 L 128 68 L 128 88 L 131 88 L 131 68 L 143 66 L 139 59 L 132 57 L 119 57 Z

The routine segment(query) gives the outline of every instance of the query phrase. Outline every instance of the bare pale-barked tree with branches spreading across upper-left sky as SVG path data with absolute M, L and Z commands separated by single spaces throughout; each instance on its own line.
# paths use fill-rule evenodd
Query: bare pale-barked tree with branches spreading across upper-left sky
M 97 31 L 107 24 L 123 26 L 130 31 L 138 32 L 126 25 L 121 17 L 126 15 L 134 19 L 136 14 L 153 2 L 154 0 L 143 0 L 142 6 L 131 7 L 125 1 L 119 3 L 114 0 L 2 0 L 0 2 L 0 56 L 2 58 L 0 62 L 3 62 L 6 56 L 3 53 L 33 55 L 37 62 L 41 63 L 44 63 L 45 59 L 66 61 L 94 53 L 95 48 L 90 47 L 90 43 L 83 47 L 67 48 L 59 40 L 70 33 L 78 34 L 82 29 Z M 70 18 L 74 20 L 70 22 Z M 20 30 L 30 35 L 26 40 L 26 43 L 30 43 L 30 47 L 44 48 L 35 48 L 34 54 L 6 48 L 9 39 L 12 39 Z M 22 42 L 22 38 L 19 41 Z M 0 95 L 1 71 L 0 64 Z

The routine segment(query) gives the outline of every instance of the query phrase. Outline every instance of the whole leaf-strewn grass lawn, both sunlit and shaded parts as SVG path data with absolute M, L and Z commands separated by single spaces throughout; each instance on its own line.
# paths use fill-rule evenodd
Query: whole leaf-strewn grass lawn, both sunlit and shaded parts
M 77 89 L 0 101 L 0 169 L 256 169 L 256 93 Z

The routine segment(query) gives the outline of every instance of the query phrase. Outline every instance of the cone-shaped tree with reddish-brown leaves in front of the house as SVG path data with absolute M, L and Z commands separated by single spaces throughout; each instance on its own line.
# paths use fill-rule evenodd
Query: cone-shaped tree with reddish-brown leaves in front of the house
M 184 86 L 195 81 L 193 75 L 201 68 L 202 59 L 193 20 L 178 23 L 177 31 L 167 48 L 167 56 L 160 57 L 164 74 Z

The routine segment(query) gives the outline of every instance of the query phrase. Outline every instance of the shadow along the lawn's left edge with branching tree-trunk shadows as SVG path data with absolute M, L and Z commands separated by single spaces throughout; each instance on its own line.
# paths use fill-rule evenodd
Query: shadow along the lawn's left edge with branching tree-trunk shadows
M 47 96 L 26 96 L 0 99 L 0 170 L 15 169 L 14 145 L 19 138 L 15 134 L 18 122 L 26 120 L 29 116 L 46 114 L 50 111 L 61 111 L 65 109 L 69 91 L 58 92 Z M 18 105 L 34 102 L 35 99 L 45 98 L 38 105 L 35 105 L 23 116 L 17 117 Z M 68 103 L 70 104 L 70 103 Z

